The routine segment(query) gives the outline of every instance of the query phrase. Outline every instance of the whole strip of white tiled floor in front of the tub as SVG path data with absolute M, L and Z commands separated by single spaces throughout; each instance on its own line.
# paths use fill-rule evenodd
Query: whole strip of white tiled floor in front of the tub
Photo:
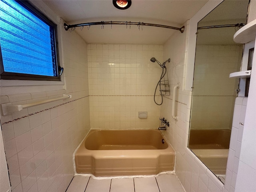
M 155 177 L 94 179 L 75 176 L 66 192 L 184 192 L 174 174 Z

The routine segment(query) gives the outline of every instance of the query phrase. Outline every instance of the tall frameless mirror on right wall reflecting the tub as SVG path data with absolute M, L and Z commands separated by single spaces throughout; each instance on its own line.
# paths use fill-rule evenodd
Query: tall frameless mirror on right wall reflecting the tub
M 223 1 L 198 27 L 246 24 L 248 1 Z M 233 36 L 238 27 L 198 29 L 188 147 L 225 180 L 242 44 Z

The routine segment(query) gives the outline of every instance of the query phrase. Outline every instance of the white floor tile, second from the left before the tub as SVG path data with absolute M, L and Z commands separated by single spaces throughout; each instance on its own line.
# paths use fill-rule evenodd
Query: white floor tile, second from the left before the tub
M 90 178 L 85 192 L 109 192 L 111 179 Z

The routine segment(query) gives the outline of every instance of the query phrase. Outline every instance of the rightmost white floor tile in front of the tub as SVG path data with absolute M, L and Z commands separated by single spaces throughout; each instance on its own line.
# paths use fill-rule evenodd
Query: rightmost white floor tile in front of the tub
M 184 192 L 176 175 L 162 174 L 156 178 L 160 192 Z

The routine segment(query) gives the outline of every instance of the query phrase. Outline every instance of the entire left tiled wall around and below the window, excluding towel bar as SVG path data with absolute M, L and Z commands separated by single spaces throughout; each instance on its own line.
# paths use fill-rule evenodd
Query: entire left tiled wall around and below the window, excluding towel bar
M 76 32 L 64 29 L 59 38 L 66 90 L 11 95 L 1 91 L 1 104 L 72 95 L 1 115 L 12 192 L 65 192 L 74 176 L 72 154 L 90 130 L 86 42 Z

